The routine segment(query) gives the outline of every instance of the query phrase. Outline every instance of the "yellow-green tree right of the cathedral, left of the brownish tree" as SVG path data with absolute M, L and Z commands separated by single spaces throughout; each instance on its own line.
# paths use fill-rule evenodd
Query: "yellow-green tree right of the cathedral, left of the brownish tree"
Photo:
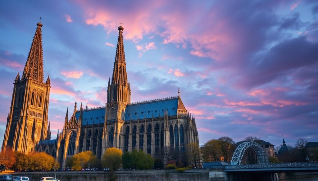
M 220 161 L 221 151 L 220 144 L 217 139 L 211 139 L 206 142 L 202 147 L 204 162 L 216 162 Z

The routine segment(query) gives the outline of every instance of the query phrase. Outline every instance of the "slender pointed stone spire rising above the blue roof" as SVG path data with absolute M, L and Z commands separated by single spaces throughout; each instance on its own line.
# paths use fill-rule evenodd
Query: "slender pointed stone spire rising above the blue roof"
M 121 23 L 122 24 L 122 23 Z M 116 55 L 114 61 L 114 69 L 112 74 L 112 81 L 108 81 L 107 102 L 114 100 L 115 102 L 130 103 L 130 89 L 128 89 L 128 78 L 126 71 L 126 60 L 124 51 L 124 40 L 122 32 L 124 27 L 118 27 L 119 35 L 116 48 Z M 109 88 L 110 85 L 110 88 Z

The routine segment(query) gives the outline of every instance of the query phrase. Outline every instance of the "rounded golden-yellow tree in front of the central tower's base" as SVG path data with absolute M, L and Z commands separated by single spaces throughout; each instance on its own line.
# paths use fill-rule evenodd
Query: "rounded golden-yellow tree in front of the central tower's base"
M 121 150 L 117 148 L 107 148 L 102 158 L 102 166 L 109 168 L 110 171 L 120 168 L 121 156 Z

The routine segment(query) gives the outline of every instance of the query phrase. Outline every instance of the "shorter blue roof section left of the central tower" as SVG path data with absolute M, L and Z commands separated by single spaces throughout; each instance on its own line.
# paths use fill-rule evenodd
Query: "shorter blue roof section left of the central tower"
M 80 111 L 75 113 L 76 120 L 79 120 Z M 105 107 L 93 108 L 88 110 L 83 110 L 83 120 L 82 125 L 92 125 L 104 123 L 105 120 Z

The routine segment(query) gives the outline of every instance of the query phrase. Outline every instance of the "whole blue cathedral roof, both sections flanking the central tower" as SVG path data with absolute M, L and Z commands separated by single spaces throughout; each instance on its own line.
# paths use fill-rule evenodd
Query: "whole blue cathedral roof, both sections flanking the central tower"
M 143 102 L 136 102 L 128 104 L 126 107 L 124 120 L 140 120 L 142 119 L 149 119 L 164 116 L 164 113 L 168 112 L 168 116 L 177 115 L 179 98 L 171 97 L 165 99 L 158 99 L 158 100 L 150 100 L 150 101 L 143 101 Z M 185 109 L 182 104 L 182 109 Z M 79 120 L 80 112 L 77 111 L 75 113 L 76 120 Z M 82 125 L 92 125 L 104 123 L 105 120 L 105 107 L 100 108 L 92 108 L 88 110 L 83 110 L 83 120 Z

